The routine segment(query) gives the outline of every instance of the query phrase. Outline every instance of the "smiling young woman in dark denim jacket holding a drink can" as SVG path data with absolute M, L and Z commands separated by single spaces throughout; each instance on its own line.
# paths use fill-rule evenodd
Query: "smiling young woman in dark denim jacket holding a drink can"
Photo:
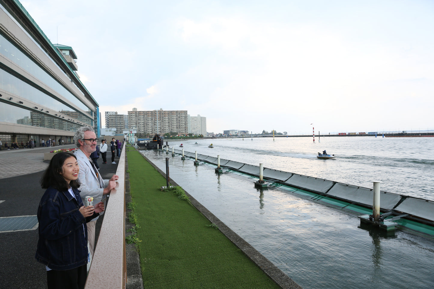
M 75 155 L 57 153 L 41 185 L 46 189 L 38 207 L 39 240 L 36 260 L 47 269 L 49 289 L 84 288 L 88 260 L 86 222 L 104 211 L 104 204 L 83 206 Z

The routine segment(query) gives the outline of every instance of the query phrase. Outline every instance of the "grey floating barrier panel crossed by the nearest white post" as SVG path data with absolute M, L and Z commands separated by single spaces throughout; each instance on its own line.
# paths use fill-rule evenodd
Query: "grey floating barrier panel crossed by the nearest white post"
M 336 183 L 327 194 L 349 200 L 352 203 L 365 204 L 371 207 L 374 199 L 374 191 L 372 189 L 342 183 Z M 380 191 L 380 207 L 383 209 L 393 209 L 399 200 L 401 200 L 401 196 L 398 194 Z

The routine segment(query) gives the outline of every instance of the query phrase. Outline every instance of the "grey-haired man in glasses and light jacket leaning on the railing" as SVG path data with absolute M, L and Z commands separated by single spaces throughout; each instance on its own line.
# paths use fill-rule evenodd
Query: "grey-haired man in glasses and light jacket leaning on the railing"
M 99 171 L 96 169 L 90 154 L 96 150 L 98 139 L 95 131 L 90 126 L 82 126 L 77 129 L 74 135 L 74 142 L 79 148 L 74 152 L 79 163 L 79 190 L 80 196 L 85 202 L 85 197 L 93 197 L 93 203 L 98 204 L 103 201 L 105 204 L 105 194 L 109 194 L 116 187 L 117 175 L 113 175 L 110 180 L 103 180 Z M 101 214 L 100 214 L 101 215 Z M 87 223 L 87 234 L 89 241 L 89 251 L 93 256 L 95 247 L 95 223 L 98 217 Z

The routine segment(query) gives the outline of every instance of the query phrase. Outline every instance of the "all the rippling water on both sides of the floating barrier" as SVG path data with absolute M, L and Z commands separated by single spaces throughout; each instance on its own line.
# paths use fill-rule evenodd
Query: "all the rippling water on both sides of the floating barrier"
M 434 195 L 429 138 L 321 138 L 320 144 L 245 138 L 213 140 L 214 148 L 197 142 L 183 141 L 184 150 L 365 187 L 379 180 L 382 190 L 415 197 Z M 178 148 L 181 141 L 170 144 Z M 339 158 L 317 159 L 323 149 Z M 403 230 L 385 236 L 361 228 L 351 213 L 288 191 L 255 189 L 245 176 L 217 175 L 213 166 L 195 167 L 189 158 L 142 152 L 163 171 L 169 156 L 174 181 L 305 289 L 432 288 L 432 238 Z M 396 157 L 404 152 L 405 158 Z

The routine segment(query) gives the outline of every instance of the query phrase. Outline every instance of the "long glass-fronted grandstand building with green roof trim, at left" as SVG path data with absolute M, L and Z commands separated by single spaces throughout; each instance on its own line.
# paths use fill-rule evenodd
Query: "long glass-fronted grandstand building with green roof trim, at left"
M 98 135 L 98 103 L 76 74 L 70 46 L 53 44 L 18 0 L 0 1 L 0 138 L 72 142 L 82 125 Z

